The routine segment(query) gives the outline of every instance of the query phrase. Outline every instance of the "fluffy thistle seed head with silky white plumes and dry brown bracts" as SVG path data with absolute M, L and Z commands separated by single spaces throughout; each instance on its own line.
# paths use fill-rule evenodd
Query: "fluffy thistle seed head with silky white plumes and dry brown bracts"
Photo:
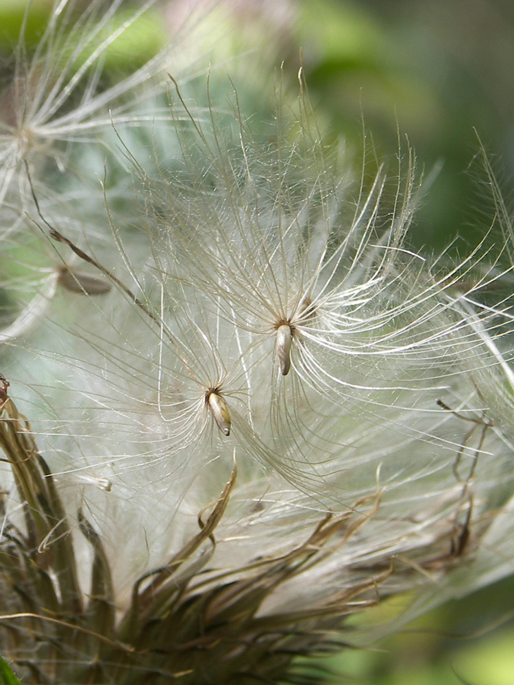
M 512 229 L 487 163 L 498 227 L 458 262 L 416 253 L 408 146 L 391 175 L 356 181 L 301 72 L 294 99 L 276 79 L 262 128 L 214 77 L 160 74 L 162 55 L 95 94 L 110 39 L 75 66 L 84 18 L 66 32 L 64 6 L 36 55 L 75 55 L 78 108 L 59 136 L 21 145 L 13 127 L 2 158 L 14 671 L 313 682 L 295 656 L 362 645 L 509 573 L 511 314 L 489 286 L 512 268 Z M 166 82 L 155 117 L 125 103 L 142 73 Z M 29 74 L 40 101 L 79 88 Z M 53 164 L 63 149 L 76 178 Z M 407 590 L 411 610 L 374 623 Z

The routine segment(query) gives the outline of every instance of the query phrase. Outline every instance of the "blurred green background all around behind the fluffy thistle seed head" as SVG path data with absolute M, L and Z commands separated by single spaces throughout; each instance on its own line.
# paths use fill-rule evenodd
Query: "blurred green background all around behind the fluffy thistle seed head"
M 106 69 L 119 72 L 143 63 L 167 40 L 162 16 L 171 30 L 184 4 L 161 2 L 136 22 L 125 42 L 121 39 L 110 50 Z M 24 0 L 0 1 L 2 85 L 12 76 L 25 5 Z M 32 5 L 29 43 L 37 40 L 51 2 L 34 0 Z M 493 163 L 498 160 L 509 201 L 514 172 L 512 0 L 230 0 L 212 10 L 209 21 L 219 36 L 212 63 L 218 60 L 226 73 L 235 73 L 245 108 L 259 116 L 271 112 L 268 74 L 283 61 L 294 84 L 301 47 L 323 129 L 358 147 L 364 121 L 378 158 L 394 158 L 399 136 L 408 136 L 425 173 L 440 167 L 413 229 L 417 247 L 438 249 L 456 235 L 474 242 L 487 230 L 489 206 L 480 191 L 485 177 L 477 179 L 468 171 L 478 151 L 474 129 Z M 240 62 L 238 55 L 252 49 L 255 69 L 248 71 L 248 62 Z M 513 685 L 513 610 L 511 578 L 442 606 L 374 651 L 345 651 L 328 660 L 326 665 L 341 673 L 330 682 Z M 502 625 L 495 627 L 498 622 Z

